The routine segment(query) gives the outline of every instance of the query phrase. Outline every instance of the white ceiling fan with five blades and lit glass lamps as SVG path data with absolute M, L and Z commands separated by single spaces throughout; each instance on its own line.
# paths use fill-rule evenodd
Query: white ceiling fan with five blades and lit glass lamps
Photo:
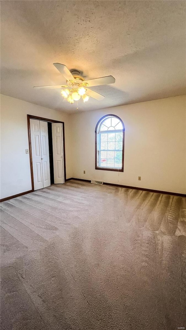
M 67 85 L 34 86 L 33 88 L 62 88 L 62 96 L 71 104 L 73 104 L 74 101 L 78 101 L 80 98 L 82 98 L 83 102 L 87 102 L 89 100 L 89 97 L 92 97 L 98 101 L 102 101 L 105 96 L 94 92 L 87 87 L 107 85 L 115 82 L 115 78 L 113 76 L 101 77 L 85 81 L 84 78 L 80 76 L 79 71 L 73 70 L 70 72 L 66 65 L 60 63 L 54 63 L 54 66 L 65 77 Z

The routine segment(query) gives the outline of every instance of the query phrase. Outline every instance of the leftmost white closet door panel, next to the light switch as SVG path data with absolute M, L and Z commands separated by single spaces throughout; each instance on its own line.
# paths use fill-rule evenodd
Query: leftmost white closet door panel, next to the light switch
M 41 137 L 39 120 L 30 119 L 34 190 L 43 188 L 43 171 L 41 157 Z

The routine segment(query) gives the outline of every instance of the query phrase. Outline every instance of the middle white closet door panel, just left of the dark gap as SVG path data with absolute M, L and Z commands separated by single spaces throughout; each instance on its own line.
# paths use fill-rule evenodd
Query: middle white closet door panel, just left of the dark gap
M 48 123 L 40 121 L 41 158 L 43 170 L 43 188 L 50 186 L 50 160 L 48 144 Z

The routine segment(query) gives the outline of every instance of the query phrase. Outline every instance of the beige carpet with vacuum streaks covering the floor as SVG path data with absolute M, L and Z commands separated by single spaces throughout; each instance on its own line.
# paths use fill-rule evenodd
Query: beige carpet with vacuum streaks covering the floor
M 186 198 L 69 181 L 1 210 L 1 330 L 186 328 Z

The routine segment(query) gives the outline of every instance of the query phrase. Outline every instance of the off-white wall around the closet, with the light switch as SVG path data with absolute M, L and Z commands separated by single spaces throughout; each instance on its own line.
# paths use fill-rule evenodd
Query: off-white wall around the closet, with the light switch
M 65 122 L 67 178 L 71 173 L 69 115 L 1 94 L 1 197 L 31 189 L 27 114 Z

